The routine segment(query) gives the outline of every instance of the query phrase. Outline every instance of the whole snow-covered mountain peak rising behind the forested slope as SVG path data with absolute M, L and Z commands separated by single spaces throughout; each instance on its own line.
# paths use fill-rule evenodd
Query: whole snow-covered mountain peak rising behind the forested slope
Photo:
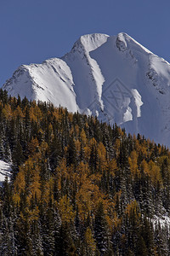
M 126 33 L 82 36 L 62 58 L 20 66 L 3 89 L 170 146 L 170 64 Z

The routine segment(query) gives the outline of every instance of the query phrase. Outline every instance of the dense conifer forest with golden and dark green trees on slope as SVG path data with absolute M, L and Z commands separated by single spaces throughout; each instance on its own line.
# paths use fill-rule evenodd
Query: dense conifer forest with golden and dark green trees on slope
M 0 90 L 0 159 L 0 255 L 170 255 L 166 147 Z

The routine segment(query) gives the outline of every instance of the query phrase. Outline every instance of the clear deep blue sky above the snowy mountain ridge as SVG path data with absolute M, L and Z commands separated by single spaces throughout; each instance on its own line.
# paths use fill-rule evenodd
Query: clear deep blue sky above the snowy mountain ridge
M 170 61 L 170 1 L 0 0 L 0 86 L 21 64 L 62 56 L 94 32 L 127 32 Z

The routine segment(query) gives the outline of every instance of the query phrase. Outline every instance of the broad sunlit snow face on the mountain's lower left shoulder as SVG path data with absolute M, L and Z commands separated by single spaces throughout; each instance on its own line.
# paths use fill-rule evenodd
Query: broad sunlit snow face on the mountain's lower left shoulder
M 60 104 L 75 112 L 78 106 L 73 85 L 70 68 L 65 61 L 55 58 L 38 65 L 22 65 L 3 85 L 3 89 L 12 96 L 53 102 L 55 106 Z

